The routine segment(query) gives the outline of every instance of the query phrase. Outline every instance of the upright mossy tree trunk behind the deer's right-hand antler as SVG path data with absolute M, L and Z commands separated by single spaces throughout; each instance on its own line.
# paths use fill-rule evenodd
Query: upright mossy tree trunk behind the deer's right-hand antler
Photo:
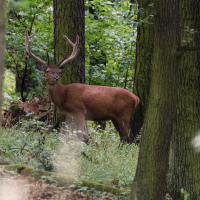
M 64 85 L 85 83 L 85 7 L 84 0 L 54 0 L 54 62 L 59 62 L 68 52 L 71 45 L 63 38 L 66 35 L 73 43 L 79 35 L 79 54 L 60 75 Z M 55 121 L 62 122 L 58 108 L 54 112 Z

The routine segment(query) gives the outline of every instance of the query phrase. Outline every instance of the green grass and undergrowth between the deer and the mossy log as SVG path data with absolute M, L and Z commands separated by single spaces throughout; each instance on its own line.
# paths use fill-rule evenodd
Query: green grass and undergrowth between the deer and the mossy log
M 99 130 L 90 122 L 88 130 L 92 139 L 85 145 L 76 139 L 76 133 L 59 134 L 36 119 L 20 128 L 1 129 L 0 160 L 130 189 L 139 147 L 134 144 L 119 147 L 119 135 L 110 123 L 105 130 Z M 83 151 L 87 157 L 82 155 Z

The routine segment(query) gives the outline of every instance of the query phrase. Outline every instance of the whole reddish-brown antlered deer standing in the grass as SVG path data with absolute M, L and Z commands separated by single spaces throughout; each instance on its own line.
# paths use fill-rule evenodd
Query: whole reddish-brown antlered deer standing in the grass
M 36 61 L 40 71 L 46 73 L 47 93 L 50 100 L 59 108 L 65 119 L 73 118 L 76 130 L 86 131 L 85 120 L 107 121 L 111 120 L 119 132 L 120 142 L 132 143 L 130 132 L 130 119 L 140 99 L 132 92 L 109 86 L 86 85 L 72 83 L 63 85 L 59 83 L 59 73 L 66 69 L 66 63 L 76 58 L 79 52 L 79 36 L 76 42 L 64 36 L 64 39 L 73 47 L 71 55 L 67 58 L 67 52 L 63 59 L 50 65 L 48 49 L 46 49 L 47 61 L 35 56 L 30 47 L 29 40 L 35 35 L 28 35 L 26 30 L 25 48 L 28 55 Z M 87 138 L 88 139 L 88 138 Z M 86 139 L 86 140 L 87 140 Z

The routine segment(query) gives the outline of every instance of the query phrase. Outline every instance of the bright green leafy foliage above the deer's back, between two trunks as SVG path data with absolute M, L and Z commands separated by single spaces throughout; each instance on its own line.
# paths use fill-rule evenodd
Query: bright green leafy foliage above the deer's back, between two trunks
M 131 89 L 136 10 L 129 1 L 95 0 L 86 6 L 86 82 Z

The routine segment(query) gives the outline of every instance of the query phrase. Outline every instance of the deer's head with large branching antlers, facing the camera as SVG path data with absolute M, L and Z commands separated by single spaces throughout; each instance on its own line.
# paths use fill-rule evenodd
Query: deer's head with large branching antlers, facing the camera
M 66 57 L 67 57 L 67 52 L 66 52 L 65 56 L 63 57 L 63 59 L 59 63 L 57 63 L 55 66 L 51 66 L 50 61 L 49 61 L 48 49 L 46 49 L 47 61 L 41 60 L 40 58 L 38 58 L 37 56 L 35 56 L 32 53 L 30 46 L 28 45 L 28 42 L 34 35 L 35 35 L 35 33 L 33 33 L 31 36 L 29 36 L 28 30 L 26 29 L 26 40 L 25 40 L 26 51 L 27 51 L 28 55 L 36 61 L 37 68 L 40 71 L 44 71 L 46 73 L 47 84 L 55 85 L 59 80 L 59 73 L 62 72 L 66 68 L 65 64 L 70 62 L 74 58 L 76 58 L 76 56 L 78 55 L 79 49 L 77 47 L 78 47 L 78 44 L 79 44 L 79 36 L 78 35 L 76 36 L 76 43 L 75 44 L 72 43 L 71 40 L 67 36 L 64 36 L 64 38 L 73 47 L 72 54 L 69 58 L 66 59 Z

